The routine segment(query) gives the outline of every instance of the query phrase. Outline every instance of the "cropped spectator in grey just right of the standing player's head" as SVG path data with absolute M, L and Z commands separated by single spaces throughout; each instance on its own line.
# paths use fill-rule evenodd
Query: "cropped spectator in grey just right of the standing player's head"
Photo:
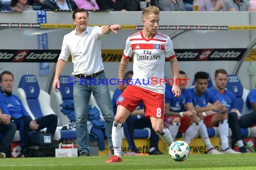
M 161 11 L 186 11 L 183 0 L 159 0 L 158 7 Z

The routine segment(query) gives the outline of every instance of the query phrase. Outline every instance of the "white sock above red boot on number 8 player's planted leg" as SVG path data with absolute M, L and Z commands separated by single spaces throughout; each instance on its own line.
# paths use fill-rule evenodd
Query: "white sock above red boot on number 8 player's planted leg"
M 114 155 L 121 157 L 122 138 L 124 135 L 124 124 L 113 123 L 112 127 L 112 142 L 114 146 Z

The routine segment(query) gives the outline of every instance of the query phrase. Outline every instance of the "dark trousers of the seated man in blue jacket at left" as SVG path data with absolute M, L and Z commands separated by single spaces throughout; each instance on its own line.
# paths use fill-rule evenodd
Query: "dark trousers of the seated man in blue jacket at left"
M 17 129 L 20 130 L 20 137 L 21 137 L 21 145 L 22 149 L 25 149 L 28 146 L 29 140 L 29 123 L 31 122 L 30 116 L 22 116 L 21 118 L 14 121 L 17 125 Z M 37 131 L 47 127 L 46 133 L 52 134 L 54 136 L 58 118 L 57 115 L 46 115 L 41 118 L 35 119 L 36 123 L 39 125 Z

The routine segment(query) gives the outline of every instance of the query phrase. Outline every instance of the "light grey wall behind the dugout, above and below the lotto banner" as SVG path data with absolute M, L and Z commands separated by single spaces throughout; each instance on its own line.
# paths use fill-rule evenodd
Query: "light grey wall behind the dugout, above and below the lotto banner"
M 47 23 L 73 24 L 71 12 L 47 12 Z M 256 25 L 256 13 L 248 12 L 161 12 L 160 25 L 166 26 L 197 26 L 197 25 L 215 25 L 215 26 L 248 26 Z M 0 13 L 1 23 L 37 23 L 37 13 Z M 119 23 L 121 25 L 141 25 L 141 12 L 90 12 L 89 22 L 91 25 L 105 25 Z M 61 49 L 63 36 L 72 29 L 30 29 L 30 28 L 3 28 L 0 27 L 0 49 L 38 49 L 38 34 L 46 33 L 48 35 L 48 49 Z M 121 30 L 118 35 L 111 33 L 102 40 L 102 49 L 122 50 L 128 35 L 138 30 Z M 160 30 L 163 34 L 171 35 L 177 30 Z M 173 38 L 175 49 L 234 49 L 246 48 L 256 38 L 255 30 L 190 30 Z M 256 48 L 256 47 L 254 47 Z M 179 58 L 178 58 L 179 59 Z M 180 69 L 188 74 L 190 81 L 188 87 L 192 84 L 194 73 L 197 71 L 207 71 L 214 76 L 215 69 L 225 68 L 232 73 L 237 61 L 182 61 Z M 165 75 L 172 77 L 170 64 L 165 64 Z M 116 78 L 118 75 L 119 62 L 104 62 L 107 77 Z M 53 67 L 53 63 L 50 64 Z M 248 75 L 248 68 L 256 68 L 256 62 L 243 62 L 238 76 L 246 89 L 255 86 L 256 76 Z M 72 63 L 68 63 L 63 74 L 70 75 L 72 72 Z M 132 69 L 132 62 L 128 70 Z M 33 73 L 39 77 L 39 83 L 42 89 L 45 89 L 46 83 L 50 78 L 48 76 L 39 76 L 38 63 L 1 63 L 0 72 L 9 70 L 15 75 L 14 93 L 18 86 L 20 77 L 25 73 Z M 110 85 L 110 90 L 114 91 L 116 85 Z

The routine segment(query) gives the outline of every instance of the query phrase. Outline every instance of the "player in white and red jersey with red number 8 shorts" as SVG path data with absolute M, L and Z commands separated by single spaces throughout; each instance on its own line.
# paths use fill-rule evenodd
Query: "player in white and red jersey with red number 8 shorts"
M 119 65 L 119 89 L 124 91 L 117 101 L 117 112 L 112 127 L 112 141 L 115 154 L 105 161 L 122 162 L 121 145 L 123 125 L 133 110 L 144 102 L 145 116 L 150 119 L 154 131 L 168 145 L 172 144 L 170 131 L 163 126 L 164 117 L 164 62 L 169 60 L 173 80 L 179 76 L 179 65 L 173 50 L 171 39 L 157 31 L 159 27 L 159 8 L 150 6 L 142 12 L 143 30 L 128 37 L 124 54 Z M 127 86 L 124 73 L 129 59 L 133 57 L 132 81 Z M 176 97 L 181 95 L 177 84 L 172 86 L 172 93 Z

